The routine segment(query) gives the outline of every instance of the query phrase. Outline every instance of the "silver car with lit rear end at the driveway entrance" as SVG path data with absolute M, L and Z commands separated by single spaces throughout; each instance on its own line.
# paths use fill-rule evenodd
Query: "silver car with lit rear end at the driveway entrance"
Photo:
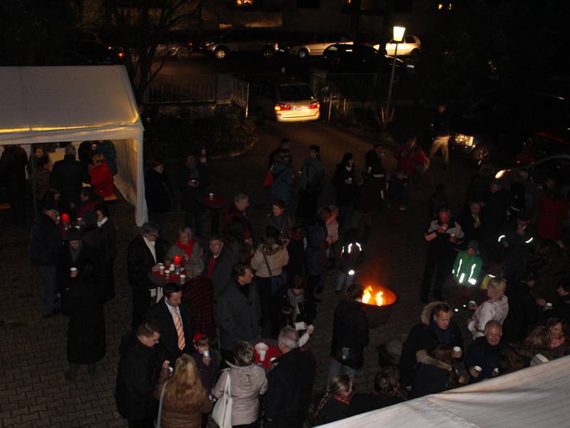
M 259 124 L 265 119 L 316 121 L 321 115 L 321 103 L 309 85 L 293 76 L 271 73 L 246 80 L 250 82 L 249 111 Z

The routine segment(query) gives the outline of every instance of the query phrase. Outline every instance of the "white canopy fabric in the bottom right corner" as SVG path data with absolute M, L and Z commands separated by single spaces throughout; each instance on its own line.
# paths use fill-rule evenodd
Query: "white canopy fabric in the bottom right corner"
M 321 426 L 569 427 L 569 402 L 570 356 Z

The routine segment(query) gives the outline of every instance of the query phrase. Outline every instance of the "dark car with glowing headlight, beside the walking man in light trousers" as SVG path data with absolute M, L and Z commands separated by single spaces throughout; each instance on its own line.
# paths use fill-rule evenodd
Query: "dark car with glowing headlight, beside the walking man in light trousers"
M 452 119 L 450 148 L 475 165 L 512 159 L 533 133 L 569 123 L 564 98 L 551 93 L 497 92 Z

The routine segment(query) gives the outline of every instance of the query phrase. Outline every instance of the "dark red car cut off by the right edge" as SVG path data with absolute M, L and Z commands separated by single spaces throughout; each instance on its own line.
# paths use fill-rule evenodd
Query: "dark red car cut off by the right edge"
M 539 159 L 570 151 L 570 129 L 566 126 L 551 131 L 537 132 L 522 146 L 514 158 L 515 165 L 528 165 Z

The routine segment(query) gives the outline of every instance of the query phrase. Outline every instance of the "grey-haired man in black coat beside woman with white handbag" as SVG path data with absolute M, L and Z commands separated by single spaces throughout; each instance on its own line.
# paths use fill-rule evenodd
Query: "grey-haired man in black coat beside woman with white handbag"
M 267 374 L 264 427 L 301 428 L 311 403 L 316 360 L 309 350 L 299 349 L 294 328 L 282 329 L 277 345 L 283 355 Z

